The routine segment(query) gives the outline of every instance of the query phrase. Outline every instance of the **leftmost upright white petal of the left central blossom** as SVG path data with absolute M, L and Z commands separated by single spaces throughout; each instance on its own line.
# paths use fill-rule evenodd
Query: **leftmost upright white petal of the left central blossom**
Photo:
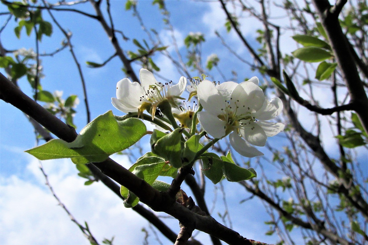
M 121 79 L 116 84 L 116 97 L 127 107 L 138 108 L 142 102 L 140 97 L 145 94 L 138 82 L 131 82 L 128 78 Z

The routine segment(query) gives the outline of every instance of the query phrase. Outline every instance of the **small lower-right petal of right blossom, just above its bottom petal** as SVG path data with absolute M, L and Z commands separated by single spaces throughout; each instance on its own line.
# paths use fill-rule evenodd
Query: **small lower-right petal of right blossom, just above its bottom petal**
M 267 136 L 261 126 L 254 122 L 249 122 L 239 129 L 240 135 L 249 143 L 256 146 L 265 146 Z

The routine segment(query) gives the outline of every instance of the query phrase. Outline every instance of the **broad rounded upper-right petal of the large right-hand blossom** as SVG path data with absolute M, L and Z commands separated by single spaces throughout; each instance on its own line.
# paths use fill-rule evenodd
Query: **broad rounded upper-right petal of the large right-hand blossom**
M 242 82 L 231 93 L 230 106 L 237 108 L 237 114 L 253 113 L 262 107 L 264 101 L 261 88 L 252 82 Z

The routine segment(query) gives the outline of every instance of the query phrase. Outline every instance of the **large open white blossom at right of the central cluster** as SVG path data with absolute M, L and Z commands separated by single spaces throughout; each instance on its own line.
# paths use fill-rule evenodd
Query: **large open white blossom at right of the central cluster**
M 217 86 L 202 81 L 197 93 L 204 109 L 198 113 L 202 128 L 215 138 L 229 135 L 231 146 L 243 156 L 262 156 L 251 145 L 264 146 L 267 137 L 285 127 L 268 121 L 280 114 L 282 101 L 279 98 L 268 101 L 256 77 L 241 84 L 224 82 Z

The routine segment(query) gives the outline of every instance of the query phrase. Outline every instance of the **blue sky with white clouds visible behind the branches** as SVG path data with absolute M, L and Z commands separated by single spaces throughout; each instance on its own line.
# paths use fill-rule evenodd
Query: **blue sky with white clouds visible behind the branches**
M 124 35 L 133 39 L 141 40 L 142 37 L 148 40 L 141 27 L 137 24 L 136 18 L 132 17 L 131 11 L 124 10 L 125 1 L 111 1 L 113 6 L 112 14 L 116 18 L 115 27 L 124 32 Z M 214 35 L 217 30 L 223 35 L 227 35 L 229 44 L 244 57 L 252 61 L 249 54 L 241 45 L 233 32 L 226 34 L 223 26 L 225 16 L 217 2 L 200 1 L 167 1 L 167 8 L 171 11 L 171 22 L 175 27 L 176 38 L 180 50 L 185 49 L 183 39 L 189 32 L 202 32 L 205 34 L 206 43 L 203 45 L 204 57 L 216 53 L 220 57 L 219 65 L 227 78 L 231 78 L 231 70 L 238 72 L 239 80 L 245 77 L 258 75 L 249 70 L 238 60 L 232 58 L 221 45 L 220 41 Z M 86 12 L 93 13 L 89 4 L 79 5 Z M 155 28 L 163 40 L 170 41 L 169 32 L 164 29 L 162 15 L 159 14 L 157 6 L 152 6 L 151 1 L 139 1 L 138 10 L 143 21 L 148 28 Z M 0 12 L 6 11 L 3 5 L 0 5 Z M 89 106 L 91 108 L 91 118 L 95 118 L 108 110 L 113 110 L 116 115 L 123 113 L 116 110 L 111 104 L 111 97 L 115 97 L 116 82 L 124 78 L 121 71 L 122 64 L 118 58 L 114 58 L 108 65 L 102 68 L 91 69 L 85 65 L 85 61 L 102 63 L 113 53 L 113 47 L 109 43 L 103 29 L 94 20 L 82 17 L 75 13 L 53 12 L 65 29 L 70 29 L 73 33 L 72 44 L 74 51 L 78 56 L 79 63 L 86 79 Z M 277 15 L 282 15 L 278 13 Z M 46 12 L 43 17 L 50 21 Z M 6 17 L 0 16 L 0 23 L 3 24 Z M 72 20 L 72 21 L 71 21 Z M 244 33 L 251 39 L 254 38 L 255 30 L 261 25 L 252 19 L 243 19 L 242 28 Z M 282 20 L 277 20 L 280 23 Z M 6 49 L 17 49 L 33 47 L 34 36 L 27 37 L 25 31 L 21 33 L 21 39 L 18 40 L 13 32 L 15 22 L 11 21 L 7 28 L 1 33 L 1 42 Z M 291 35 L 291 34 L 290 34 Z M 285 35 L 282 39 L 282 50 L 290 53 L 296 48 L 290 35 Z M 54 25 L 54 32 L 51 38 L 43 37 L 40 43 L 41 53 L 52 52 L 60 47 L 63 39 L 60 31 Z M 131 41 L 124 42 L 120 40 L 125 50 L 135 51 L 136 47 Z M 256 47 L 255 43 L 252 43 Z M 169 48 L 170 50 L 171 48 Z M 181 75 L 178 74 L 173 65 L 167 58 L 156 54 L 155 62 L 161 68 L 160 75 L 178 81 Z M 79 132 L 86 124 L 86 113 L 83 104 L 83 95 L 81 83 L 78 77 L 78 71 L 71 60 L 70 53 L 67 50 L 56 54 L 54 57 L 44 57 L 42 61 L 43 73 L 46 75 L 42 79 L 43 89 L 53 92 L 62 90 L 63 97 L 66 99 L 71 94 L 78 95 L 80 103 L 77 107 L 75 124 Z M 134 66 L 138 74 L 138 65 Z M 1 71 L 3 72 L 3 71 Z M 212 72 L 216 80 L 221 81 L 218 73 Z M 193 73 L 193 76 L 200 74 Z M 25 79 L 19 81 L 20 87 L 31 95 L 32 91 Z M 317 91 L 323 94 L 323 91 Z M 271 96 L 272 97 L 272 96 Z M 303 109 L 301 109 L 302 111 Z M 308 119 L 304 120 L 308 124 Z M 328 134 L 327 134 L 328 135 Z M 329 136 L 329 135 L 328 135 Z M 327 137 L 328 138 L 328 137 Z M 272 144 L 283 142 L 282 136 L 275 136 L 269 139 Z M 327 145 L 329 141 L 325 142 Z M 45 187 L 43 176 L 38 170 L 38 161 L 24 153 L 24 150 L 32 148 L 35 145 L 35 135 L 33 128 L 21 111 L 15 109 L 10 104 L 0 102 L 0 243 L 1 244 L 88 244 L 87 240 L 79 232 L 78 228 L 68 220 L 67 215 L 57 206 L 56 201 L 51 196 L 49 190 Z M 142 142 L 144 145 L 144 142 Z M 149 149 L 146 147 L 146 151 Z M 334 152 L 335 149 L 330 149 Z M 121 163 L 124 167 L 129 167 L 125 156 L 113 156 L 113 159 Z M 254 160 L 252 160 L 254 161 Z M 140 231 L 142 227 L 149 229 L 148 223 L 139 217 L 134 211 L 125 209 L 120 199 L 101 183 L 94 183 L 91 186 L 84 186 L 84 180 L 77 176 L 75 166 L 69 160 L 50 160 L 45 161 L 43 166 L 49 174 L 50 182 L 53 185 L 60 199 L 66 204 L 77 219 L 83 223 L 88 221 L 93 234 L 99 239 L 111 238 L 116 236 L 116 244 L 141 244 L 144 234 Z M 274 169 L 268 170 L 269 173 Z M 170 182 L 170 180 L 167 180 Z M 216 189 L 209 181 L 207 182 L 206 198 L 211 208 L 212 200 L 215 198 Z M 219 187 L 217 187 L 219 188 Z M 250 202 L 238 204 L 240 200 L 249 197 L 242 188 L 236 183 L 224 185 L 225 193 L 228 198 L 230 215 L 233 221 L 234 230 L 241 235 L 259 240 L 262 242 L 273 243 L 278 239 L 275 236 L 266 236 L 264 233 L 268 230 L 263 222 L 268 220 L 261 201 L 254 198 Z M 184 187 L 184 191 L 188 188 Z M 188 191 L 188 193 L 190 193 Z M 223 212 L 222 194 L 217 191 L 217 204 L 213 216 L 220 221 L 217 212 Z M 245 211 L 247 210 L 247 211 Z M 239 217 L 241 216 L 243 217 Z M 164 214 L 160 214 L 164 215 Z M 165 219 L 174 231 L 178 231 L 176 220 Z M 249 226 L 249 224 L 252 224 Z M 204 244 L 208 240 L 208 235 L 200 234 L 200 239 Z M 151 232 L 150 241 L 155 244 Z M 162 238 L 164 244 L 167 240 Z M 301 240 L 299 240 L 301 241 Z

